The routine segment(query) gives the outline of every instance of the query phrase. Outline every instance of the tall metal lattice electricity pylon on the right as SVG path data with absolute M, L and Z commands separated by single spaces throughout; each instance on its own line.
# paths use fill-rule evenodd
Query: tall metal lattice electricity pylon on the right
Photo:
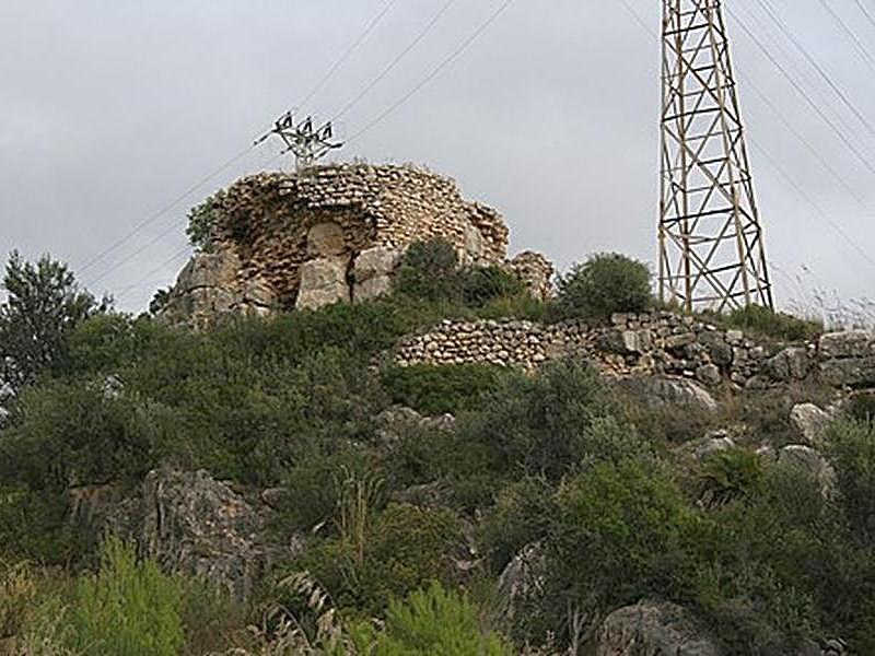
M 721 0 L 663 0 L 660 296 L 773 307 Z

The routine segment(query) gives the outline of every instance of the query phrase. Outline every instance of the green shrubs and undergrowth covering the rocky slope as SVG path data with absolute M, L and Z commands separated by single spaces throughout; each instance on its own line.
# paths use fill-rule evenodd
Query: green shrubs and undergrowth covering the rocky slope
M 26 289 L 8 273 L 0 326 L 27 317 L 54 345 L 32 361 L 3 342 L 14 394 L 0 420 L 0 644 L 510 654 L 585 640 L 611 610 L 655 597 L 695 611 L 732 653 L 788 653 L 825 636 L 875 649 L 875 427 L 864 400 L 831 429 L 837 492 L 824 496 L 745 449 L 690 465 L 675 447 L 701 436 L 700 418 L 618 398 L 584 362 L 533 376 L 399 371 L 381 354 L 446 316 L 605 317 L 650 302 L 646 277 L 615 276 L 639 266 L 615 256 L 576 269 L 556 304 L 539 304 L 494 271 L 442 279 L 435 271 L 455 271 L 442 248 L 413 249 L 388 298 L 201 332 L 101 308 L 66 272 Z M 591 281 L 605 279 L 631 289 L 591 297 Z M 18 311 L 28 294 L 50 312 Z M 775 440 L 767 417 L 785 415 L 767 401 L 724 405 L 748 421 L 751 444 Z M 395 402 L 452 412 L 455 429 L 415 422 L 387 438 L 377 418 Z M 303 539 L 303 550 L 245 604 L 113 540 L 94 553 L 69 522 L 68 490 L 131 488 L 160 465 L 205 468 L 246 491 L 281 487 L 272 539 Z M 495 581 L 533 546 L 542 589 L 503 622 Z

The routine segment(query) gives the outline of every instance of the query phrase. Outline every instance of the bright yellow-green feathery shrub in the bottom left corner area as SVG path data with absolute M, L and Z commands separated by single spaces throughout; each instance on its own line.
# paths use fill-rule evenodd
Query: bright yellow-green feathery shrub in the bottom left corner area
M 70 646 L 83 654 L 177 656 L 185 643 L 182 609 L 177 581 L 109 539 L 100 572 L 77 586 Z

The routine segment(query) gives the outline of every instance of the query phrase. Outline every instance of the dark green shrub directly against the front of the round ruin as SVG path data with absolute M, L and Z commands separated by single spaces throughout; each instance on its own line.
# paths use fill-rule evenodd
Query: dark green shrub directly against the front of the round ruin
M 458 256 L 450 242 L 416 242 L 395 271 L 394 289 L 421 301 L 455 301 L 459 296 L 457 268 Z

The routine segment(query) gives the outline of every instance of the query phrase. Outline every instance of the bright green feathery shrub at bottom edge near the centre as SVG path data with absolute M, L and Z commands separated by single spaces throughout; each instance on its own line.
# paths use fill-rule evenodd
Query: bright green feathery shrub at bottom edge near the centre
M 516 651 L 498 633 L 481 626 L 475 606 L 432 582 L 405 601 L 389 602 L 374 656 L 510 656 Z

